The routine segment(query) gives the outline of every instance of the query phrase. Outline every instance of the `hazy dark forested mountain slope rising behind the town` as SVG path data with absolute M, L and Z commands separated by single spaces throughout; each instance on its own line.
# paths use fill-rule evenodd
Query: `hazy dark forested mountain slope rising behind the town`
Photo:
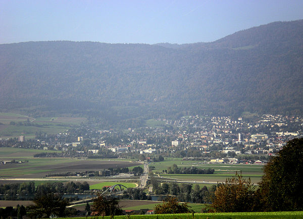
M 210 43 L 0 45 L 0 111 L 132 118 L 303 112 L 303 20 Z

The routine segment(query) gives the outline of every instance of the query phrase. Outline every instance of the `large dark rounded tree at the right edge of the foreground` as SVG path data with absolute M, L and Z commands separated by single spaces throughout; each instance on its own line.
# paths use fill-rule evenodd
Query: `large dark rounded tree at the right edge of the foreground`
M 264 167 L 260 183 L 266 211 L 303 210 L 303 138 L 288 141 Z

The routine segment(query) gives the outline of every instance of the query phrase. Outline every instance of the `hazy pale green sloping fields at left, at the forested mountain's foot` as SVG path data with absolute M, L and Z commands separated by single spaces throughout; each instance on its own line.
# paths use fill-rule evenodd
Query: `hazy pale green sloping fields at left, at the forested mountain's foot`
M 0 113 L 0 138 L 18 137 L 23 133 L 25 138 L 29 139 L 34 138 L 36 132 L 57 134 L 83 122 L 86 122 L 86 118 L 30 118 L 20 114 Z

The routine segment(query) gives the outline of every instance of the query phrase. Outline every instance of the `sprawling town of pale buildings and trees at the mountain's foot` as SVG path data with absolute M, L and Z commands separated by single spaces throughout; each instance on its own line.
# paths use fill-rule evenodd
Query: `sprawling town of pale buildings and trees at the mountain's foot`
M 95 130 L 89 126 L 57 135 L 42 135 L 36 147 L 79 154 L 100 154 L 105 149 L 115 154 L 163 154 L 179 157 L 210 157 L 213 162 L 236 162 L 239 155 L 275 155 L 287 141 L 303 137 L 303 117 L 263 115 L 231 117 L 187 116 L 161 120 L 161 126 L 128 130 Z M 24 136 L 19 138 L 24 141 Z M 24 142 L 22 142 L 24 143 Z

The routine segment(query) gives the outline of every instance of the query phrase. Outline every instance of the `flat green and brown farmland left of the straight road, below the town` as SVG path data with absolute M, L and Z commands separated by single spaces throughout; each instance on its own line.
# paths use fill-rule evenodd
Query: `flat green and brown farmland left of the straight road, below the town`
M 24 161 L 0 165 L 1 178 L 41 178 L 50 173 L 99 171 L 108 168 L 141 166 L 139 162 L 121 159 L 73 159 L 65 157 L 33 157 L 45 150 L 0 147 L 0 160 Z M 61 151 L 48 151 L 61 152 Z

